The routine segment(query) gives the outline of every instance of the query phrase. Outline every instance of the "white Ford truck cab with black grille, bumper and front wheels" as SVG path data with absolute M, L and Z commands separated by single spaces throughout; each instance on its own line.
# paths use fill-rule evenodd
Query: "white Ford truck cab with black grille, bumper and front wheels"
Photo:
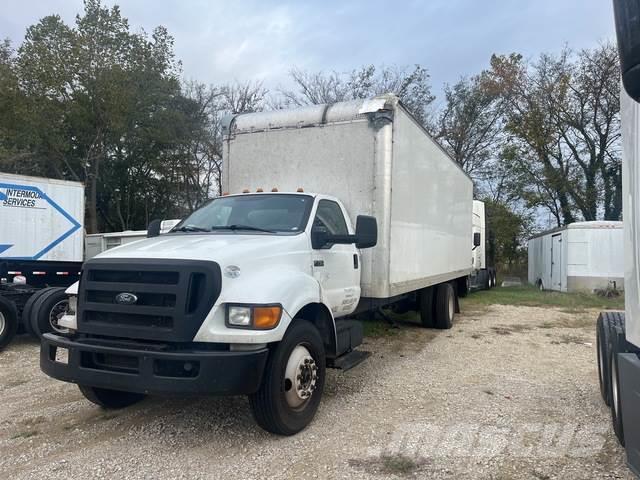
M 261 426 L 295 433 L 327 362 L 361 341 L 358 324 L 339 319 L 358 305 L 360 249 L 376 238 L 374 218 L 354 228 L 328 195 L 215 198 L 167 234 L 87 261 L 60 320 L 69 334 L 44 336 L 42 369 L 105 407 L 249 394 Z

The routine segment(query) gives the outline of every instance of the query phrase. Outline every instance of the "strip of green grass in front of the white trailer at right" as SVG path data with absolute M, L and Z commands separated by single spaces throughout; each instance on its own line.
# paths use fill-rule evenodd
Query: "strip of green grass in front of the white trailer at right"
M 462 309 L 473 309 L 488 305 L 516 305 L 526 307 L 559 307 L 567 313 L 579 313 L 586 309 L 622 310 L 624 296 L 606 298 L 589 293 L 541 292 L 526 285 L 521 287 L 496 287 L 491 290 L 472 292 L 461 299 Z

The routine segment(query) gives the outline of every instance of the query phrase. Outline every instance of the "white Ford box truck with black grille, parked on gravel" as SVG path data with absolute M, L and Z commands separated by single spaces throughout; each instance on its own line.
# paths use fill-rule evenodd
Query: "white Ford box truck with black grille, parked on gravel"
M 111 408 L 247 394 L 260 426 L 291 435 L 325 369 L 364 357 L 354 314 L 402 304 L 451 327 L 472 182 L 391 95 L 225 125 L 228 193 L 88 260 L 41 368 Z

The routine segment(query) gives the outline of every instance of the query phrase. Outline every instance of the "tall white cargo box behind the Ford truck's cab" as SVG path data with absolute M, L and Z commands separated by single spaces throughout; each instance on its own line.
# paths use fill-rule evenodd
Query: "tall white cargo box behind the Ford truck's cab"
M 225 135 L 224 191 L 302 188 L 341 199 L 351 218 L 377 219 L 363 297 L 469 275 L 473 183 L 397 98 L 245 114 Z

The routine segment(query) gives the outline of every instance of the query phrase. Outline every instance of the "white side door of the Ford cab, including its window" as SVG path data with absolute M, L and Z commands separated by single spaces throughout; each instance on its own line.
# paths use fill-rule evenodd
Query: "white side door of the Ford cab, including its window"
M 349 230 L 338 203 L 320 200 L 313 219 L 313 232 L 347 235 Z M 323 301 L 334 317 L 353 312 L 360 299 L 360 254 L 353 244 L 328 244 L 313 250 L 313 276 L 322 288 Z

